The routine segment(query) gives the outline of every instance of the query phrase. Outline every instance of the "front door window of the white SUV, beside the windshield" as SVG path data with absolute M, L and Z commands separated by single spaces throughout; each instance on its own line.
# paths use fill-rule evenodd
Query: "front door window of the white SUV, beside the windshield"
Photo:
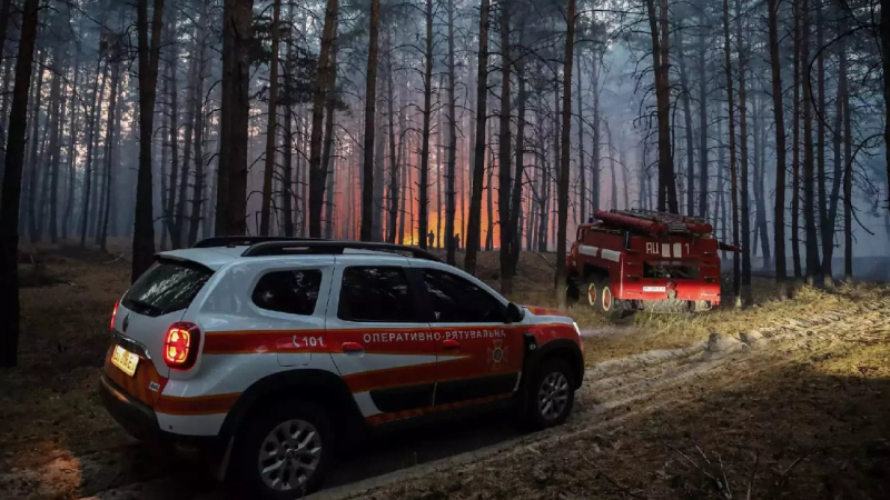
M 424 269 L 423 277 L 435 317 L 434 322 L 504 322 L 504 306 L 477 284 L 436 269 Z

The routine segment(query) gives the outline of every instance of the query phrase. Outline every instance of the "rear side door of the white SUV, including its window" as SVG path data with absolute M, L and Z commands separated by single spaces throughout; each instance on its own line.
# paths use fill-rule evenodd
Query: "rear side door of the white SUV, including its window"
M 433 403 L 436 342 L 407 259 L 338 262 L 326 320 L 330 352 L 365 419 L 383 423 Z

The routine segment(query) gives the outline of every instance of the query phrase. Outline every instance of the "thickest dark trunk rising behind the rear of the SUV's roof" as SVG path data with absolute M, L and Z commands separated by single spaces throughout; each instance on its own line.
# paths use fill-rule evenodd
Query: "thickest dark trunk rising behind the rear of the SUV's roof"
M 216 233 L 247 231 L 247 148 L 254 0 L 225 0 Z

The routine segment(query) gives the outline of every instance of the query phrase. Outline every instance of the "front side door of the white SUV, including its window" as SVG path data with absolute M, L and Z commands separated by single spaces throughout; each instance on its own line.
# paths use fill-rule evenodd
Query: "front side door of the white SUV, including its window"
M 505 322 L 506 306 L 456 273 L 417 269 L 429 326 L 437 342 L 435 404 L 506 398 L 518 387 L 523 363 L 520 330 Z

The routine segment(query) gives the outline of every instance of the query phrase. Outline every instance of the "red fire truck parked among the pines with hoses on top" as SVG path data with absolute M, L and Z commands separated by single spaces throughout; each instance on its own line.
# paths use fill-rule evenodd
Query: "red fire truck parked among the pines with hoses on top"
M 718 242 L 703 219 L 645 210 L 596 210 L 566 257 L 570 301 L 610 318 L 637 310 L 693 312 L 720 304 Z

